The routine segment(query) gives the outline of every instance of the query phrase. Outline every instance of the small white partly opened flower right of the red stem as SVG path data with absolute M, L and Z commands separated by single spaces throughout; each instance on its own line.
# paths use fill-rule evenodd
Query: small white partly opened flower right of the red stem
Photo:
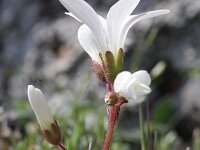
M 142 102 L 145 96 L 151 92 L 150 75 L 140 70 L 133 74 L 128 71 L 119 73 L 114 81 L 114 91 L 127 100 Z

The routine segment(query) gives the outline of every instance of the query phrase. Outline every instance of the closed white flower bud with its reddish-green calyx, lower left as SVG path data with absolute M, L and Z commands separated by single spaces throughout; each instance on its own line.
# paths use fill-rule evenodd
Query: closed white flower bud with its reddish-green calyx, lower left
M 28 86 L 27 92 L 29 102 L 37 117 L 44 138 L 53 145 L 60 144 L 60 129 L 49 111 L 43 93 L 32 85 Z

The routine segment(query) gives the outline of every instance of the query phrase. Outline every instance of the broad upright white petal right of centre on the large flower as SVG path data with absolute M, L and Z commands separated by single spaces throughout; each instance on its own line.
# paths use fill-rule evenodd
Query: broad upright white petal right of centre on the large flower
M 136 8 L 140 0 L 119 0 L 113 5 L 107 15 L 109 42 L 111 44 L 111 51 L 115 52 L 119 48 L 121 30 L 130 16 L 132 11 Z

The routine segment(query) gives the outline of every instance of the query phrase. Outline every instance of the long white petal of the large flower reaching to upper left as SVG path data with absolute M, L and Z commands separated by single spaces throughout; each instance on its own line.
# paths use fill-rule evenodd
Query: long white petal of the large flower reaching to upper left
M 76 18 L 86 24 L 94 33 L 101 49 L 107 49 L 106 37 L 99 16 L 84 0 L 59 0 Z

